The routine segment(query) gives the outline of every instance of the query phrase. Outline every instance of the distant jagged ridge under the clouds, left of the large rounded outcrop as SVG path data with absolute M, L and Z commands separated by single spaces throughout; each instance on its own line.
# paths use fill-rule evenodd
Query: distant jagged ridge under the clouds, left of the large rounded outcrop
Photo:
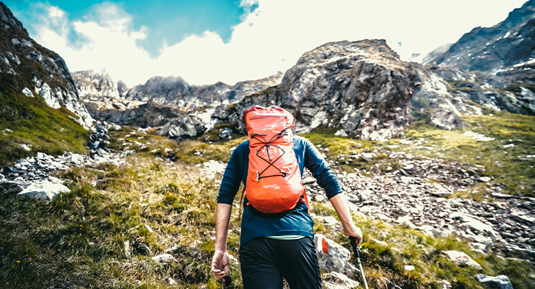
M 245 95 L 261 91 L 279 83 L 282 72 L 263 79 L 238 82 L 229 86 L 222 82 L 207 86 L 192 86 L 181 77 L 152 77 L 145 84 L 134 86 L 123 93 L 127 100 L 152 101 L 177 107 L 203 107 L 206 105 L 239 102 Z

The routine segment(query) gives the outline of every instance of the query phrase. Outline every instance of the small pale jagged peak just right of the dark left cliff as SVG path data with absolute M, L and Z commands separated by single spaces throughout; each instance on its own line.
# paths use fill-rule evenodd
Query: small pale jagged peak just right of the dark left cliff
M 114 97 L 119 97 L 118 86 L 105 70 L 102 72 L 77 71 L 72 72 L 71 75 L 78 95 L 84 100 L 110 102 Z

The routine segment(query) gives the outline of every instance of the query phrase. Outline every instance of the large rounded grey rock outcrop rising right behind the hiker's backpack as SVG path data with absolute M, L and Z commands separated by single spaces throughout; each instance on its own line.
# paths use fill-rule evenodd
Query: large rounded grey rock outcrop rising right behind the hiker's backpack
M 414 99 L 425 99 L 441 119 L 452 114 L 447 129 L 455 126 L 458 109 L 467 110 L 462 101 L 452 103 L 440 77 L 401 61 L 384 40 L 332 42 L 305 53 L 279 86 L 245 97 L 233 114 L 222 117 L 227 123 L 240 121 L 240 111 L 253 104 L 276 104 L 296 116 L 297 133 L 323 125 L 339 135 L 381 140 L 410 123 Z

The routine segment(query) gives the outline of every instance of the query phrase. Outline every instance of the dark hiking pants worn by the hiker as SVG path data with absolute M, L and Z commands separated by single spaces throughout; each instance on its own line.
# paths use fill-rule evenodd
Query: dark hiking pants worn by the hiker
M 316 246 L 310 237 L 274 240 L 256 237 L 240 249 L 244 289 L 321 289 Z

